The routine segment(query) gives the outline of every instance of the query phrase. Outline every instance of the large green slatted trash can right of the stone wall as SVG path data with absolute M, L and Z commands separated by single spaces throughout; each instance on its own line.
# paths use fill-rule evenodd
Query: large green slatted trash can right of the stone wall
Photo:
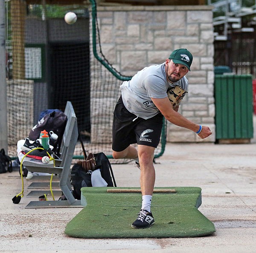
M 215 75 L 214 95 L 216 142 L 250 142 L 253 138 L 252 76 Z

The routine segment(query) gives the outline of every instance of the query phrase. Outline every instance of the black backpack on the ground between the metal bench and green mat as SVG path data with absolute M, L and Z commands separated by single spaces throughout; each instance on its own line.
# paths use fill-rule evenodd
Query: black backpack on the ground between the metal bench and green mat
M 107 186 L 116 187 L 116 181 L 108 157 L 101 152 L 94 154 L 94 158 L 96 161 L 95 170 L 100 169 L 101 176 L 107 182 Z M 81 199 L 81 188 L 92 187 L 91 171 L 85 171 L 82 165 L 76 163 L 71 170 L 71 184 L 73 185 L 74 198 Z

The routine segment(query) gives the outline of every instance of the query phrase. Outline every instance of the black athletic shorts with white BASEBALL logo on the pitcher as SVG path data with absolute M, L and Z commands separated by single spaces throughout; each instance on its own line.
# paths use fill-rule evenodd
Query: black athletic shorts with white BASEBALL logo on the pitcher
M 162 126 L 162 114 L 159 113 L 150 119 L 137 117 L 125 108 L 120 97 L 114 110 L 112 149 L 120 152 L 133 143 L 157 148 Z

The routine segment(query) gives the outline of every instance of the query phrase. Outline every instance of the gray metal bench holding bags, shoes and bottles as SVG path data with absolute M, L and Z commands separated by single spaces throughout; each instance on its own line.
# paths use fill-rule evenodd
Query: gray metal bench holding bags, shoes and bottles
M 64 113 L 67 115 L 67 124 L 64 131 L 61 144 L 60 159 L 55 159 L 55 166 L 52 164 L 43 164 L 42 162 L 31 162 L 25 157 L 23 165 L 31 172 L 45 172 L 58 174 L 59 188 L 66 196 L 67 200 L 60 201 L 31 201 L 26 208 L 63 208 L 63 207 L 82 207 L 81 201 L 74 198 L 71 193 L 70 167 L 73 154 L 78 139 L 77 118 L 72 103 L 67 101 Z

